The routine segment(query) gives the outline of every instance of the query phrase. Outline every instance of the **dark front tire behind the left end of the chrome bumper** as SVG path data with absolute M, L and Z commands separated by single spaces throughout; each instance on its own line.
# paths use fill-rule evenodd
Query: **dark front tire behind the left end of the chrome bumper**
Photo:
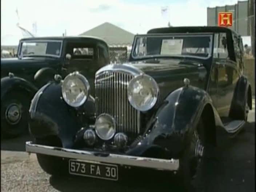
M 36 144 L 61 147 L 60 140 L 55 136 L 36 139 Z M 68 173 L 68 160 L 62 157 L 36 154 L 40 167 L 50 175 L 63 176 Z

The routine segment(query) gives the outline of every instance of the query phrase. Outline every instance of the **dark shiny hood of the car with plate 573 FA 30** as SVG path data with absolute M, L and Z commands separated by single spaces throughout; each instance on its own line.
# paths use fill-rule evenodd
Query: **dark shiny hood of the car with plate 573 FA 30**
M 184 86 L 184 78 L 190 80 L 190 85 L 205 89 L 207 85 L 207 70 L 203 64 L 198 61 L 187 59 L 167 59 L 159 63 L 129 63 L 143 71 L 145 74 L 153 77 L 160 92 L 160 100 L 163 100 L 175 89 Z

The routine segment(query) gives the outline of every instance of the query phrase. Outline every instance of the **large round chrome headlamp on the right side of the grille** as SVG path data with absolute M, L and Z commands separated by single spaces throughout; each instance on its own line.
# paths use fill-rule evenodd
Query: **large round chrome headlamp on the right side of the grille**
M 148 111 L 156 104 L 159 87 L 152 77 L 139 75 L 129 82 L 127 94 L 132 107 L 139 111 Z

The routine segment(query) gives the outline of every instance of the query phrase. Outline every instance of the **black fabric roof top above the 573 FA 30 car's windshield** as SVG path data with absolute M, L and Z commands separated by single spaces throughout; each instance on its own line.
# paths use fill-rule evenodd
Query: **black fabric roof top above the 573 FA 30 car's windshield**
M 163 27 L 150 29 L 148 33 L 213 33 L 213 32 L 225 32 L 235 33 L 239 35 L 233 29 L 227 27 L 215 27 L 215 26 L 203 26 L 203 27 Z

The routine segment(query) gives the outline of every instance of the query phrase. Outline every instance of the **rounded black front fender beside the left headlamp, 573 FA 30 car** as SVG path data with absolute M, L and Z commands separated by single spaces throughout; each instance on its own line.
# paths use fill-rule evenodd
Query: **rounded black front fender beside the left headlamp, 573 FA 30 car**
M 84 104 L 92 106 L 88 99 Z M 76 109 L 69 106 L 62 98 L 61 83 L 51 82 L 44 85 L 32 99 L 29 109 L 29 131 L 35 138 L 57 136 L 65 148 L 72 148 L 81 122 L 76 117 Z

